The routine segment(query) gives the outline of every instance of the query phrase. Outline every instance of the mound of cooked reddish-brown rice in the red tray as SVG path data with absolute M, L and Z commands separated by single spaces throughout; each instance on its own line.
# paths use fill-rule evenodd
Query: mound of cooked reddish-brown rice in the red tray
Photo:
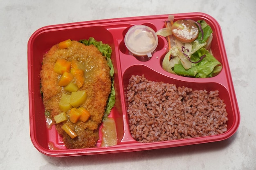
M 132 75 L 127 87 L 129 126 L 139 142 L 218 135 L 227 111 L 218 91 L 192 90 Z

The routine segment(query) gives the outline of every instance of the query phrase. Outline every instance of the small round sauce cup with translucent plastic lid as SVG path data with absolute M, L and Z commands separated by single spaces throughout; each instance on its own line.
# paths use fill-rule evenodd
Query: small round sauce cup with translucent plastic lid
M 149 26 L 135 25 L 130 27 L 126 33 L 124 43 L 131 53 L 152 57 L 151 53 L 157 48 L 158 38 Z

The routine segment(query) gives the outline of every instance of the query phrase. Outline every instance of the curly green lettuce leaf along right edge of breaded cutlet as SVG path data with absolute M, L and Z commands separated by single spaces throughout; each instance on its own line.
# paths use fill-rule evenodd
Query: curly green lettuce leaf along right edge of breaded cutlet
M 79 42 L 85 44 L 85 45 L 94 45 L 96 46 L 99 51 L 102 53 L 103 56 L 106 56 L 106 59 L 108 61 L 108 66 L 110 67 L 110 76 L 111 76 L 111 93 L 108 97 L 107 106 L 104 112 L 104 117 L 108 117 L 108 115 L 111 112 L 111 109 L 114 107 L 116 102 L 116 94 L 115 94 L 115 87 L 114 87 L 114 66 L 111 60 L 111 53 L 112 49 L 108 44 L 102 43 L 102 41 L 97 41 L 94 38 L 90 37 L 88 40 L 79 40 Z

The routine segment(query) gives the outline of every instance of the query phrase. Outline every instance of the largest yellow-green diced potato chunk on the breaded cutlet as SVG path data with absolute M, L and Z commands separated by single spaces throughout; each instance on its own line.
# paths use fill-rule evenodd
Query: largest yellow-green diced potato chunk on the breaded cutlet
M 70 104 L 77 108 L 87 99 L 86 91 L 75 91 L 71 93 Z

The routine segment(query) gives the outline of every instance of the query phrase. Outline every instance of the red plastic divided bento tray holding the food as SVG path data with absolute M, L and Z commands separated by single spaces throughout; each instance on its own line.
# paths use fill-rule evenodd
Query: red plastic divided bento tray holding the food
M 222 71 L 211 78 L 190 78 L 167 73 L 162 69 L 162 60 L 168 50 L 165 38 L 158 36 L 159 43 L 152 57 L 137 57 L 130 54 L 124 44 L 124 36 L 133 25 L 146 25 L 154 31 L 164 27 L 164 21 L 168 15 L 142 16 L 132 18 L 117 18 L 59 24 L 45 26 L 35 31 L 28 42 L 28 81 L 29 81 L 29 119 L 30 136 L 35 148 L 48 156 L 76 156 L 94 155 L 114 152 L 128 152 L 167 148 L 220 141 L 233 135 L 240 122 L 240 113 L 234 92 L 234 86 L 229 71 L 229 64 L 222 39 L 222 33 L 218 22 L 204 13 L 173 14 L 175 20 L 190 18 L 193 20 L 206 20 L 213 29 L 213 41 L 211 50 L 213 55 L 222 64 Z M 44 106 L 40 94 L 40 69 L 43 55 L 58 42 L 63 40 L 82 40 L 90 37 L 109 44 L 112 48 L 112 62 L 115 68 L 116 103 L 109 117 L 115 119 L 117 127 L 118 144 L 110 147 L 100 147 L 101 139 L 95 148 L 67 149 L 62 138 L 56 132 L 54 126 L 48 128 L 45 122 Z M 131 75 L 142 75 L 149 80 L 186 86 L 193 90 L 207 91 L 218 90 L 219 97 L 224 100 L 228 113 L 227 132 L 220 135 L 179 139 L 173 141 L 161 141 L 152 143 L 140 143 L 130 135 L 126 88 Z M 99 132 L 99 136 L 101 133 Z

